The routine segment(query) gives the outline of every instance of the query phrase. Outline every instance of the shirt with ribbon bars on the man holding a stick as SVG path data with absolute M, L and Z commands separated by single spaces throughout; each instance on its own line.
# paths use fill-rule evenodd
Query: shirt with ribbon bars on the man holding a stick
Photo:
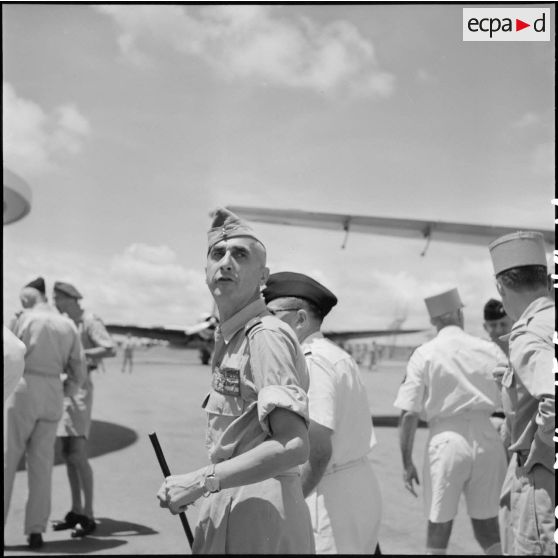
M 215 331 L 206 446 L 213 463 L 256 447 L 276 407 L 308 423 L 308 370 L 295 333 L 259 297 Z

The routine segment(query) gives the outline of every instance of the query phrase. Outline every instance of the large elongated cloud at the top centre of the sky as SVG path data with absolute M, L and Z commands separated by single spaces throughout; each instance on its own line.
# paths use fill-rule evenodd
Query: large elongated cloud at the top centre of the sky
M 221 77 L 254 79 L 326 94 L 385 97 L 394 76 L 383 71 L 372 43 L 346 21 L 316 24 L 281 17 L 270 6 L 99 6 L 119 27 L 118 43 L 131 61 L 140 47 L 163 44 L 197 56 Z

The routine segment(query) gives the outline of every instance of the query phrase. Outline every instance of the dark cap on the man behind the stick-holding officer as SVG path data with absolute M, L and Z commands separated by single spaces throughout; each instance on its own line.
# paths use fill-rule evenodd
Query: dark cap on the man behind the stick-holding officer
M 314 304 L 322 316 L 337 304 L 337 297 L 329 289 L 307 275 L 292 271 L 272 273 L 262 294 L 266 303 L 285 296 L 303 298 Z

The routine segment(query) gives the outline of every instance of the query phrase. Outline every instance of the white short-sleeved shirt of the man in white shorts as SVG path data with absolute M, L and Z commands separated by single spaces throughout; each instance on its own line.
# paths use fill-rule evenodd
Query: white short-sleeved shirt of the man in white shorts
M 490 414 L 501 404 L 492 372 L 504 363 L 491 341 L 446 326 L 412 354 L 394 405 L 426 421 L 476 411 Z

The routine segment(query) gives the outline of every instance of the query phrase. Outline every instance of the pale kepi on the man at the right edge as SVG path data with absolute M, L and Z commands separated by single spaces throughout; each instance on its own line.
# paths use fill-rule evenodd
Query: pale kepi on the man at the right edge
M 494 274 L 514 267 L 542 265 L 546 267 L 544 236 L 534 231 L 518 231 L 497 238 L 488 245 Z

